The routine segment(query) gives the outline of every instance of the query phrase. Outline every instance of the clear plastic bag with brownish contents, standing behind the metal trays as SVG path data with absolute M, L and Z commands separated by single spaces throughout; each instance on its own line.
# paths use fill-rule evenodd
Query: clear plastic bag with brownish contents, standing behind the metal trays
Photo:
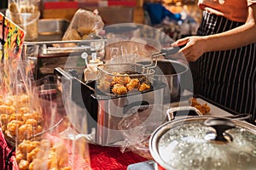
M 104 23 L 102 17 L 96 12 L 91 12 L 82 8 L 74 14 L 67 31 L 62 37 L 63 41 L 68 40 L 83 40 L 91 33 L 99 33 L 102 30 Z

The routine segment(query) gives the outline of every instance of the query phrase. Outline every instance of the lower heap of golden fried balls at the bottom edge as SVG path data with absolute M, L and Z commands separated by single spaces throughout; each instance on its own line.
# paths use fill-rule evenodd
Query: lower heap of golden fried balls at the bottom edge
M 18 145 L 16 152 L 16 161 L 19 169 L 25 170 L 41 170 L 55 169 L 69 170 L 68 164 L 68 150 L 66 145 L 49 141 L 44 139 L 39 141 L 23 140 Z

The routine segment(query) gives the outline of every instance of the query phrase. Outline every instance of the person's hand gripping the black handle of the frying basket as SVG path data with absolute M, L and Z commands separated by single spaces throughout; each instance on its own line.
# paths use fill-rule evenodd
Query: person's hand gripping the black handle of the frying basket
M 172 47 L 183 46 L 178 53 L 182 53 L 188 61 L 195 61 L 207 52 L 206 37 L 184 37 L 172 43 Z

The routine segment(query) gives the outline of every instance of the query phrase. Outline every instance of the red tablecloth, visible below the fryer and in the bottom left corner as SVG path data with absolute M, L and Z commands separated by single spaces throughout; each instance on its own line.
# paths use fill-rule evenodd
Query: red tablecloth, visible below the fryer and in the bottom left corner
M 119 147 L 107 147 L 95 144 L 90 146 L 90 167 L 92 170 L 126 170 L 127 166 L 133 163 L 147 161 L 147 159 L 137 154 L 127 151 L 122 153 Z M 4 160 L 9 154 L 9 147 L 4 139 L 0 128 L 0 169 L 4 169 Z M 18 166 L 15 161 L 15 153 L 9 163 L 9 170 L 17 170 Z

